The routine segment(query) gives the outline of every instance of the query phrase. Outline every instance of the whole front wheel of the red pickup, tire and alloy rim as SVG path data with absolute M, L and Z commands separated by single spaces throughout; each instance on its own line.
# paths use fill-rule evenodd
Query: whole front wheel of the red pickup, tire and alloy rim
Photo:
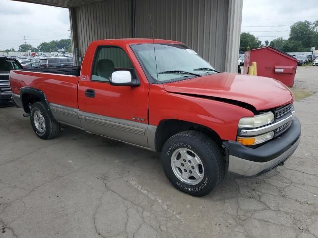
M 225 158 L 220 148 L 198 131 L 183 131 L 168 139 L 161 160 L 172 185 L 193 196 L 210 193 L 224 177 Z

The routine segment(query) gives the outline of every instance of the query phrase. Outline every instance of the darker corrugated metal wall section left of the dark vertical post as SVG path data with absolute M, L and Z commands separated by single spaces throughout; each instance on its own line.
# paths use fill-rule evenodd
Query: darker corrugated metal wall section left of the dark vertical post
M 129 38 L 131 1 L 105 0 L 75 8 L 79 56 L 90 42 L 101 39 Z

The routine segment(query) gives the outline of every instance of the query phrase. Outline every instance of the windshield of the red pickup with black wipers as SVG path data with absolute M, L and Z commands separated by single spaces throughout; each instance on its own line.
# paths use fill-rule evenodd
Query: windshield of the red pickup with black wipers
M 159 82 L 171 82 L 216 73 L 208 62 L 183 44 L 138 44 L 131 48 L 155 82 L 157 76 Z

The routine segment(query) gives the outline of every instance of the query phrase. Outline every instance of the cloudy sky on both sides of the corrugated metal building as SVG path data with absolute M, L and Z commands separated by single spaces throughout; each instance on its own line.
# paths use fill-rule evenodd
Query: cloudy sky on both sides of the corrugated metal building
M 261 41 L 288 38 L 296 21 L 318 20 L 318 0 L 244 0 L 242 32 Z M 37 47 L 42 42 L 67 39 L 70 29 L 68 9 L 0 0 L 0 50 L 24 44 Z

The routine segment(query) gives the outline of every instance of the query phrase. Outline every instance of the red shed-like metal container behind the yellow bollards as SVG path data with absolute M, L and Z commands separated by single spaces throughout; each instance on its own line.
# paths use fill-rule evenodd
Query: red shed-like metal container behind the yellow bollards
M 274 78 L 289 87 L 293 87 L 297 68 L 297 59 L 276 48 L 266 46 L 245 52 L 244 73 L 248 66 L 257 62 L 257 75 Z

